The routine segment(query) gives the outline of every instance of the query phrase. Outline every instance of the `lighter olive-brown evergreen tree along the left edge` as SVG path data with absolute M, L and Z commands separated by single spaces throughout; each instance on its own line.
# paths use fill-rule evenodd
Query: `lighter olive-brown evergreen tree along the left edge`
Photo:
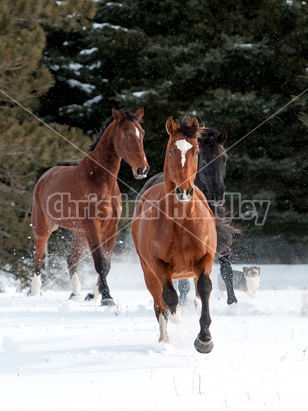
M 24 262 L 33 247 L 29 216 L 34 185 L 49 167 L 81 158 L 60 135 L 87 150 L 80 129 L 53 124 L 55 134 L 31 116 L 39 97 L 54 83 L 41 63 L 44 27 L 70 29 L 92 14 L 93 3 L 80 0 L 0 3 L 0 269 L 23 280 L 29 275 Z

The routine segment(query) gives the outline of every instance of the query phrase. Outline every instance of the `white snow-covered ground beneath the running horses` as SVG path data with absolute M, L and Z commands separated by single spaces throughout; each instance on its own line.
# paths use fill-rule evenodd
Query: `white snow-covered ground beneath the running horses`
M 236 267 L 242 268 L 242 267 Z M 308 319 L 301 314 L 308 266 L 261 266 L 254 298 L 227 306 L 214 266 L 214 350 L 194 349 L 193 292 L 170 345 L 157 343 L 151 295 L 136 262 L 114 262 L 115 308 L 43 288 L 0 293 L 0 408 L 29 410 L 308 410 Z M 64 273 L 67 275 L 67 273 Z

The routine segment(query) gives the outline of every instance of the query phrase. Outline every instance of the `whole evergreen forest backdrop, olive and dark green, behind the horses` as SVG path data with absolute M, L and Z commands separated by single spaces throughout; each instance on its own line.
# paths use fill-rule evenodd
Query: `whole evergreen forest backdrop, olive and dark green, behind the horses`
M 59 134 L 86 152 L 112 108 L 140 105 L 149 176 L 163 168 L 168 116 L 194 114 L 228 132 L 226 191 L 270 200 L 264 225 L 234 220 L 233 260 L 307 262 L 308 92 L 272 116 L 308 88 L 307 11 L 297 0 L 1 0 L 0 269 L 30 275 L 34 185 L 83 157 Z M 144 184 L 124 162 L 119 177 Z

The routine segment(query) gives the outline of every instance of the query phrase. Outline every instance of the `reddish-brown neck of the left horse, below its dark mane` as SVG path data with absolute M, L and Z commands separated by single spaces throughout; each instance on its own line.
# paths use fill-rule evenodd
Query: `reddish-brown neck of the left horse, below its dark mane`
M 101 182 L 114 184 L 120 170 L 121 158 L 114 148 L 116 122 L 113 121 L 99 139 L 97 147 L 81 162 L 81 166 L 88 169 L 90 175 L 99 177 Z

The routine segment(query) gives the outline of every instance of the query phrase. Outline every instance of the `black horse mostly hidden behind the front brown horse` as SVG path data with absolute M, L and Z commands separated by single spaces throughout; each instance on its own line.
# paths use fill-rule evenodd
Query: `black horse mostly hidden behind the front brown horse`
M 209 207 L 216 217 L 217 250 L 216 258 L 220 263 L 220 273 L 227 290 L 227 303 L 237 303 L 233 290 L 233 271 L 229 261 L 233 234 L 240 230 L 231 227 L 229 219 L 225 216 L 224 208 L 224 177 L 226 176 L 227 154 L 224 149 L 224 142 L 227 139 L 227 132 L 218 132 L 214 128 L 203 130 L 201 138 L 198 140 L 200 154 L 198 159 L 198 173 L 194 184 L 203 192 Z M 136 197 L 136 204 L 143 193 L 151 186 L 164 182 L 164 173 L 159 173 L 151 177 L 140 190 Z M 179 302 L 186 303 L 190 290 L 188 279 L 179 280 Z

